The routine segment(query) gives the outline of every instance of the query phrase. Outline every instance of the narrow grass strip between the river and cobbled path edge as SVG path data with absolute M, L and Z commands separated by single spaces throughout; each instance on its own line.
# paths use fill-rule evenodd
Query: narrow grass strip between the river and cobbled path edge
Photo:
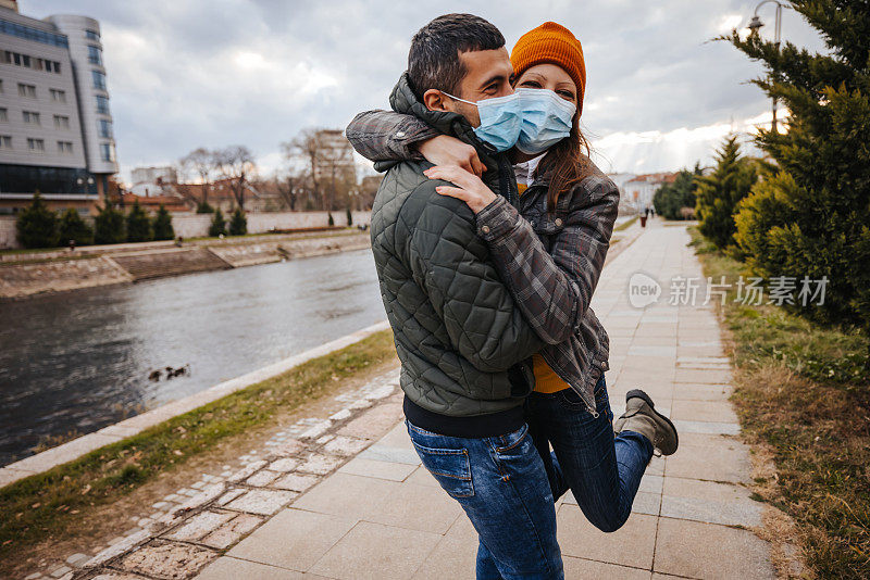
M 330 392 L 338 380 L 395 357 L 390 330 L 0 489 L 0 563 L 14 551 L 74 531 L 79 516 L 111 503 L 217 441 Z M 0 569 L 3 566 L 0 565 Z M 2 576 L 0 573 L 0 576 Z

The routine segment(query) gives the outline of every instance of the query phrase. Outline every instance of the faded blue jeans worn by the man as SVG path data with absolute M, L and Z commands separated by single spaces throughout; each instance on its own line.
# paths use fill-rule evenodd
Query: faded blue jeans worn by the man
M 564 578 L 552 492 L 527 426 L 465 439 L 406 425 L 425 468 L 477 530 L 478 580 Z

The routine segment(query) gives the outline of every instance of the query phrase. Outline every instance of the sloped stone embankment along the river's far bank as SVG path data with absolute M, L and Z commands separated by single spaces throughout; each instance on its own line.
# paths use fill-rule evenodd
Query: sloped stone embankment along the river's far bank
M 271 236 L 198 242 L 183 249 L 109 252 L 97 256 L 54 257 L 0 263 L 0 298 L 22 298 L 119 282 L 175 276 L 191 272 L 250 266 L 293 257 L 369 248 L 364 232 Z M 114 256 L 113 256 L 114 254 Z

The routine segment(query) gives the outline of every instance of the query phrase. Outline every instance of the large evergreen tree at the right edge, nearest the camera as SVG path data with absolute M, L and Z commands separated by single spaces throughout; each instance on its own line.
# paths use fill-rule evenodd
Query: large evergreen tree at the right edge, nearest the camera
M 737 241 L 762 276 L 828 277 L 825 303 L 800 308 L 870 331 L 870 9 L 867 0 L 795 0 L 829 54 L 753 34 L 726 39 L 766 75 L 754 83 L 785 104 L 783 131 L 758 146 L 779 167 L 741 209 Z

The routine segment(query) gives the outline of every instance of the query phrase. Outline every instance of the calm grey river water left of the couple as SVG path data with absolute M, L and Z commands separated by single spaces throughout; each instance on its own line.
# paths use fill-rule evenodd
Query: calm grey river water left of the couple
M 2 302 L 0 466 L 384 319 L 370 250 Z

